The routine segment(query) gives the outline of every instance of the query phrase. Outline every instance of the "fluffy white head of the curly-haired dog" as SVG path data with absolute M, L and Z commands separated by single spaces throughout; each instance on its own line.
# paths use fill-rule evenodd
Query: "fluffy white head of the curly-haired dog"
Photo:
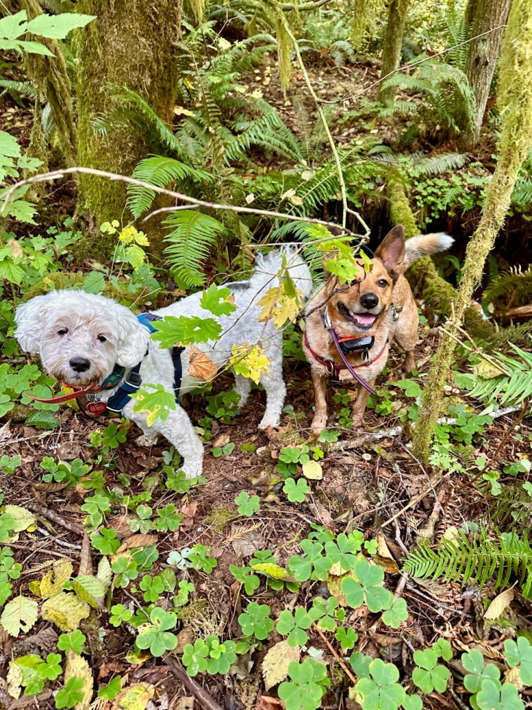
M 115 301 L 85 291 L 52 291 L 18 306 L 15 337 L 40 354 L 45 371 L 69 385 L 108 377 L 116 364 L 133 367 L 143 358 L 149 332 Z

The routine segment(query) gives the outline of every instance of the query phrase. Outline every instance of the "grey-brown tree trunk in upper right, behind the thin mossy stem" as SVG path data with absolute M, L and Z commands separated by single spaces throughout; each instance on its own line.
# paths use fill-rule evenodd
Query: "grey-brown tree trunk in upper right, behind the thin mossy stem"
M 477 37 L 469 43 L 465 73 L 473 87 L 477 109 L 474 117 L 474 129 L 467 131 L 465 145 L 471 150 L 479 141 L 484 112 L 492 86 L 493 75 L 504 25 L 508 19 L 511 0 L 485 0 L 472 4 L 470 12 L 471 36 Z M 495 29 L 499 28 L 499 29 Z M 493 30 L 490 32 L 490 30 Z M 489 34 L 485 34 L 489 32 Z M 482 36 L 478 36 L 482 35 Z

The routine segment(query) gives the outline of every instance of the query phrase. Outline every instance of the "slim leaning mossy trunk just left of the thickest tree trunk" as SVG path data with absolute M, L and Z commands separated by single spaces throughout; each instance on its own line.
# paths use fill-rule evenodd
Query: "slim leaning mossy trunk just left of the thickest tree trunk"
M 0 12 L 11 14 L 21 10 L 26 10 L 28 18 L 31 20 L 43 13 L 37 0 L 10 0 L 4 4 L 4 9 Z M 36 40 L 48 47 L 54 56 L 45 57 L 25 53 L 23 55 L 24 69 L 36 87 L 38 101 L 46 101 L 50 104 L 60 151 L 63 153 L 67 166 L 71 167 L 75 165 L 76 132 L 72 86 L 67 74 L 67 65 L 56 40 L 43 37 L 36 37 Z M 40 120 L 37 114 L 39 111 L 36 112 L 36 121 Z M 36 124 L 32 131 L 32 148 L 34 150 L 31 155 L 43 160 L 45 158 L 43 155 L 44 146 L 38 146 L 38 141 L 43 141 L 43 132 L 41 127 Z

